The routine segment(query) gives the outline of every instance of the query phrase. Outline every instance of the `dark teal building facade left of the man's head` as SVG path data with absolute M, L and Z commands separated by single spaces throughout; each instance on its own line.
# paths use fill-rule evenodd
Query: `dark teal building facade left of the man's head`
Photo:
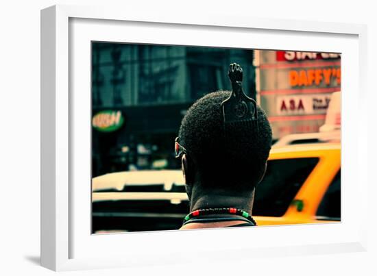
M 230 90 L 231 62 L 255 98 L 253 58 L 247 49 L 93 42 L 93 177 L 178 168 L 173 142 L 186 110 L 208 92 Z

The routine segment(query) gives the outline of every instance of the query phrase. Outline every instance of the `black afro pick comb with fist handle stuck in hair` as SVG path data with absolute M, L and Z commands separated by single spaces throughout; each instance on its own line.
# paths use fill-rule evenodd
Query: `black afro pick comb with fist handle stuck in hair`
M 243 70 L 239 64 L 229 66 L 228 77 L 232 83 L 232 94 L 221 103 L 225 136 L 242 129 L 258 134 L 258 110 L 256 101 L 247 97 L 242 89 Z M 231 142 L 231 141 L 230 141 Z

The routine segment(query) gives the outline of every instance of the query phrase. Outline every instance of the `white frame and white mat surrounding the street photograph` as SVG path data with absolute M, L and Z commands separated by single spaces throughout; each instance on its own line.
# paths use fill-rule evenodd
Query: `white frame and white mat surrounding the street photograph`
M 230 39 L 224 40 L 224 34 Z M 42 266 L 67 271 L 174 264 L 192 262 L 193 253 L 198 251 L 206 254 L 208 262 L 228 260 L 232 255 L 254 258 L 367 249 L 367 222 L 360 215 L 367 214 L 367 168 L 361 165 L 367 155 L 367 145 L 362 142 L 367 127 L 366 121 L 358 121 L 351 112 L 342 114 L 341 223 L 90 235 L 90 205 L 85 202 L 90 199 L 87 49 L 91 40 L 341 52 L 342 110 L 362 110 L 366 106 L 365 25 L 224 16 L 216 12 L 198 12 L 193 17 L 71 5 L 42 10 Z M 355 126 L 363 131 L 353 131 Z M 75 185 L 78 180 L 88 186 Z M 357 204 L 351 206 L 351 199 Z

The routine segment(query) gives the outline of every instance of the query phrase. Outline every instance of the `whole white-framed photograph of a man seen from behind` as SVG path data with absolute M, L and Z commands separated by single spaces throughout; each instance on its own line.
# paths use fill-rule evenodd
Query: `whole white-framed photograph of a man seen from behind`
M 42 10 L 42 266 L 365 251 L 366 59 L 364 25 Z

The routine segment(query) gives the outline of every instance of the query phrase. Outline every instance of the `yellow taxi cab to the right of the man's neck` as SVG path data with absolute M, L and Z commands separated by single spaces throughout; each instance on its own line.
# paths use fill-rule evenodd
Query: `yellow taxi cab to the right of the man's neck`
M 273 148 L 253 217 L 258 225 L 340 221 L 340 174 L 339 143 Z

